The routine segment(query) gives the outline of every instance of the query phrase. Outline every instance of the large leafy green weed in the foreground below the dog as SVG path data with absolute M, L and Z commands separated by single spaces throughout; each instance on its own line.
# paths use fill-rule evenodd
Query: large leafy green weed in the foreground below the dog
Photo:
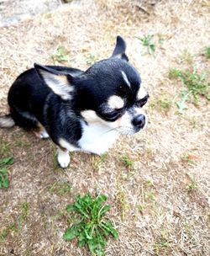
M 67 212 L 76 214 L 77 221 L 66 230 L 64 239 L 77 238 L 79 247 L 87 246 L 92 255 L 104 255 L 108 236 L 118 238 L 112 222 L 104 217 L 111 208 L 104 205 L 107 199 L 106 195 L 97 195 L 96 199 L 89 194 L 77 195 L 75 203 L 66 207 Z

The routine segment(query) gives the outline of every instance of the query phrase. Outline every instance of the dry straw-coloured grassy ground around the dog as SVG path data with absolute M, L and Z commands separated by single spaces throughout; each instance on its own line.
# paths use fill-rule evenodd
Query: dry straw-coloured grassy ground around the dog
M 89 255 L 62 238 L 66 205 L 87 192 L 108 195 L 112 205 L 108 216 L 119 238 L 108 240 L 106 255 L 210 255 L 210 107 L 200 97 L 179 115 L 183 83 L 168 75 L 172 67 L 196 65 L 209 81 L 210 59 L 203 55 L 209 24 L 207 0 L 83 0 L 0 28 L 2 115 L 8 88 L 34 62 L 59 61 L 62 45 L 63 64 L 85 69 L 111 55 L 116 35 L 127 41 L 129 60 L 150 92 L 146 130 L 122 136 L 102 158 L 74 152 L 65 170 L 57 167 L 50 140 L 18 127 L 0 130 L 0 159 L 15 161 L 8 189 L 0 190 L 0 255 Z M 154 55 L 143 55 L 137 39 L 148 34 Z

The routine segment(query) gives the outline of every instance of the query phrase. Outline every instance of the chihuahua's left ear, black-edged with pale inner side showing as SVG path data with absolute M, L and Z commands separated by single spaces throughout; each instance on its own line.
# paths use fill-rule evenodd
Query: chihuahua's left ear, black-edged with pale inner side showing
M 36 63 L 34 63 L 34 68 L 39 77 L 55 94 L 65 100 L 71 99 L 71 92 L 74 90 L 74 87 L 71 85 L 73 77 L 70 74 Z

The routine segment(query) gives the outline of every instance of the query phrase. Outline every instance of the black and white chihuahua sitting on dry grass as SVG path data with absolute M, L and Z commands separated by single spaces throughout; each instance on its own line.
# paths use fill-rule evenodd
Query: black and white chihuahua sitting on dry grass
M 10 113 L 0 117 L 0 127 L 18 125 L 40 138 L 50 136 L 62 168 L 70 163 L 69 152 L 102 154 L 119 134 L 142 130 L 149 95 L 125 49 L 118 36 L 113 55 L 86 72 L 34 64 L 9 89 Z

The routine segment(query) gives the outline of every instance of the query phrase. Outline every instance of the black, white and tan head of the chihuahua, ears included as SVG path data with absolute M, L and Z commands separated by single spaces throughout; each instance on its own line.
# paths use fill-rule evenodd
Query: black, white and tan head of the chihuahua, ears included
M 118 36 L 110 58 L 98 61 L 76 76 L 39 65 L 35 68 L 56 94 L 75 102 L 76 110 L 87 123 L 134 134 L 147 123 L 142 107 L 149 94 L 141 85 L 139 72 L 129 64 L 125 50 L 125 42 Z

